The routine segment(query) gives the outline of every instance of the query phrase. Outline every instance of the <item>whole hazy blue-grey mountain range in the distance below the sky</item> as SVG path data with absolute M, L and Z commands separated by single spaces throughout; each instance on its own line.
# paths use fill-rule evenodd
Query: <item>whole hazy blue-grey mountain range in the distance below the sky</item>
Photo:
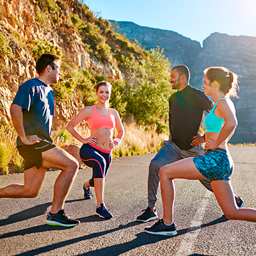
M 138 40 L 146 49 L 164 48 L 172 64 L 188 65 L 190 83 L 201 89 L 204 69 L 223 66 L 239 76 L 239 99 L 232 99 L 237 111 L 238 126 L 230 143 L 256 141 L 256 38 L 213 33 L 204 40 L 204 47 L 173 31 L 145 28 L 132 22 L 118 22 L 122 33 Z

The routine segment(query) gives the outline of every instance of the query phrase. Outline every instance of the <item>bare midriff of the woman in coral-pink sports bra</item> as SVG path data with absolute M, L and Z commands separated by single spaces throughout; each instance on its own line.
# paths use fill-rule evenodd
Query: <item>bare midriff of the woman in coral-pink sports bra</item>
M 113 138 L 113 131 L 108 128 L 100 128 L 91 131 L 91 136 L 95 136 L 98 138 L 97 147 L 103 150 L 109 150 L 109 143 Z

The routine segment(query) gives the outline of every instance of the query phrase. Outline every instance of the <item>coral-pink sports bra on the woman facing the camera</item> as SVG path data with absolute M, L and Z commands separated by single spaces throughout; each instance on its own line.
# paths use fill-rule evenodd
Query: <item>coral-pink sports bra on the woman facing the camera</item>
M 116 121 L 110 108 L 108 108 L 108 115 L 101 115 L 96 106 L 93 105 L 92 115 L 87 119 L 87 124 L 91 131 L 100 128 L 108 128 L 113 131 Z

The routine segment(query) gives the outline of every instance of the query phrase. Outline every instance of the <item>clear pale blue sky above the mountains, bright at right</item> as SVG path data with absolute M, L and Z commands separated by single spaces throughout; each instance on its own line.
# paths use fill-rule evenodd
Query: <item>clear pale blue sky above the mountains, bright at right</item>
M 172 30 L 202 44 L 211 33 L 256 37 L 256 0 L 84 0 L 97 17 Z

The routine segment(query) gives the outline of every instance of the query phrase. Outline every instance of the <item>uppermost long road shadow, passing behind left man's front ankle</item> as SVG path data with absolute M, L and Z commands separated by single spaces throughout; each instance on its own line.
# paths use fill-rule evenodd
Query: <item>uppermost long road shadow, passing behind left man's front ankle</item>
M 72 203 L 72 202 L 77 202 L 77 201 L 81 201 L 81 200 L 84 200 L 84 199 L 67 200 L 66 203 Z M 40 204 L 40 205 L 31 207 L 29 209 L 26 209 L 24 211 L 12 214 L 7 219 L 0 220 L 0 227 L 3 227 L 4 225 L 16 223 L 19 221 L 24 221 L 24 220 L 28 220 L 31 218 L 35 218 L 37 216 L 45 214 L 45 212 L 47 211 L 47 207 L 49 207 L 51 205 L 52 205 L 52 202 Z

